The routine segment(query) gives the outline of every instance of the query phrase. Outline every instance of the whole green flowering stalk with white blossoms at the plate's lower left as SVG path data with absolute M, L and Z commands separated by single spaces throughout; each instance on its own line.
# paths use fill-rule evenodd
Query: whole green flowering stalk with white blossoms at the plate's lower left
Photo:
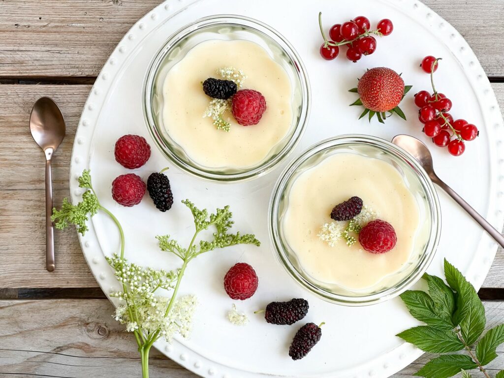
M 170 342 L 176 333 L 187 337 L 191 332 L 196 298 L 192 295 L 177 298 L 187 264 L 197 256 L 217 248 L 236 244 L 259 246 L 261 243 L 252 234 L 228 232 L 234 223 L 231 220 L 232 213 L 229 211 L 229 206 L 217 209 L 215 214 L 209 214 L 207 210 L 200 210 L 192 202 L 185 200 L 182 203 L 191 210 L 195 224 L 195 233 L 187 248 L 183 248 L 169 235 L 156 236 L 161 250 L 172 253 L 182 260 L 181 267 L 165 271 L 130 264 L 124 258 L 124 231 L 117 218 L 98 201 L 91 184 L 89 170 L 84 170 L 82 173 L 79 186 L 88 189 L 82 196 L 82 202 L 72 205 L 65 199 L 61 210 L 53 209 L 52 221 L 58 229 L 65 229 L 74 224 L 82 235 L 88 231 L 86 226 L 88 216 L 92 217 L 98 211 L 106 213 L 116 224 L 121 240 L 120 253 L 105 257 L 114 269 L 117 281 L 122 285 L 122 290 L 110 293 L 111 297 L 119 299 L 120 302 L 113 317 L 135 336 L 142 358 L 142 376 L 148 378 L 149 351 L 152 345 L 160 338 Z M 213 239 L 198 242 L 199 233 L 210 227 L 215 228 Z M 159 289 L 172 291 L 171 297 L 156 295 Z

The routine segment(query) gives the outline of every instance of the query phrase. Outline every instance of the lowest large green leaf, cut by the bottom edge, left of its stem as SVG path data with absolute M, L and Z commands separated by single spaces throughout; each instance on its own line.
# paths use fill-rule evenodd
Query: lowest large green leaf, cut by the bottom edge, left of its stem
M 471 357 L 465 354 L 445 354 L 430 360 L 413 375 L 425 378 L 448 378 L 460 373 L 461 369 L 469 370 L 476 367 Z

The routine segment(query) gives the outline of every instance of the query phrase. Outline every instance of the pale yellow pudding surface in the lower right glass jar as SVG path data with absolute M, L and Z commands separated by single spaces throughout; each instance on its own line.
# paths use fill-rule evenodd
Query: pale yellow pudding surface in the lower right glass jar
M 341 239 L 331 247 L 319 238 L 321 226 L 332 221 L 333 207 L 353 196 L 394 227 L 397 244 L 392 250 L 375 255 L 358 241 L 348 246 Z M 286 241 L 303 270 L 318 281 L 350 290 L 364 290 L 399 271 L 410 259 L 418 226 L 418 205 L 396 168 L 352 153 L 331 155 L 301 173 L 291 187 L 283 219 Z

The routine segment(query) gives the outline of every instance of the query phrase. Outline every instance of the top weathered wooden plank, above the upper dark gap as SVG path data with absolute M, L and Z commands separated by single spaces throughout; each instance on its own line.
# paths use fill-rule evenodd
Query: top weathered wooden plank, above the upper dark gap
M 128 29 L 161 0 L 0 2 L 0 76 L 96 76 Z M 501 0 L 424 0 L 467 39 L 489 76 L 504 76 Z M 478 17 L 473 17 L 478 15 Z

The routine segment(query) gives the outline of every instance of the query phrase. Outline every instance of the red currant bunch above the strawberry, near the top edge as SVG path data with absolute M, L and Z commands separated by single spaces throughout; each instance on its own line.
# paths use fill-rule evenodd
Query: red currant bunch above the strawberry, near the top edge
M 340 52 L 339 46 L 348 47 L 347 58 L 356 62 L 362 55 L 369 55 L 376 50 L 376 39 L 371 35 L 389 35 L 394 30 L 394 25 L 389 19 L 384 19 L 378 23 L 376 30 L 371 29 L 371 23 L 364 16 L 358 16 L 352 21 L 336 24 L 329 30 L 329 37 L 326 38 L 322 27 L 322 12 L 319 13 L 319 25 L 324 43 L 320 47 L 320 54 L 326 60 L 332 60 Z

